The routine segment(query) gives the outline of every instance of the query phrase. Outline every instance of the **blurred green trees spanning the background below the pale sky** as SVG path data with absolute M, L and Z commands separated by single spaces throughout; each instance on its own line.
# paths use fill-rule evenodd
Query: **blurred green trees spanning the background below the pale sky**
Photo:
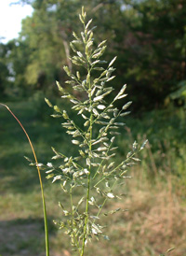
M 11 77 L 11 88 L 20 94 L 34 90 L 58 93 L 55 80 L 62 84 L 66 79 L 61 66 L 72 68 L 68 45 L 73 30 L 79 30 L 76 21 L 82 5 L 99 24 L 95 42 L 108 39 L 109 56 L 104 58 L 118 56 L 115 87 L 119 90 L 121 82 L 127 83 L 136 111 L 165 107 L 167 95 L 177 91 L 186 78 L 186 8 L 182 0 L 17 2 L 32 5 L 33 15 L 22 21 L 19 38 L 1 44 L 6 49 L 1 56 L 1 79 Z M 10 93 L 11 88 L 5 87 Z

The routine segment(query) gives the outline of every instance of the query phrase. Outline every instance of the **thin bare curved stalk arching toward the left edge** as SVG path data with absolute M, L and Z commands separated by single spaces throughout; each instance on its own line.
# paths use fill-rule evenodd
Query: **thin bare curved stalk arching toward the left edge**
M 23 125 L 21 124 L 20 120 L 14 115 L 14 113 L 9 109 L 9 107 L 7 107 L 7 105 L 2 104 L 2 103 L 0 103 L 0 105 L 6 107 L 7 110 L 10 112 L 10 114 L 14 117 L 14 119 L 19 122 L 20 127 L 22 128 L 24 134 L 27 136 L 29 144 L 30 144 L 31 149 L 33 151 L 33 157 L 34 157 L 36 168 L 37 168 L 37 172 L 38 172 L 39 183 L 40 183 L 40 188 L 41 188 L 41 195 L 42 195 L 42 202 L 43 202 L 45 235 L 46 235 L 46 256 L 49 256 L 49 240 L 48 240 L 48 228 L 47 228 L 47 218 L 46 218 L 46 216 L 47 216 L 46 215 L 46 200 L 45 200 L 45 196 L 44 196 L 43 183 L 42 183 L 42 178 L 41 178 L 41 173 L 40 173 L 39 165 L 38 165 L 38 162 L 37 162 L 37 157 L 36 157 L 35 151 L 33 149 L 33 143 L 31 141 L 29 135 L 27 134 L 26 130 L 24 129 Z

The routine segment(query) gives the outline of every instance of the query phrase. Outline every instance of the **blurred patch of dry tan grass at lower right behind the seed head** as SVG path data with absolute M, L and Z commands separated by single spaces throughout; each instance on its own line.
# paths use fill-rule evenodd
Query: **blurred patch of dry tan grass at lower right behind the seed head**
M 159 256 L 175 247 L 166 255 L 185 256 L 186 206 L 179 195 L 172 192 L 171 182 L 170 177 L 166 183 L 158 181 L 155 186 L 150 185 L 147 180 L 130 180 L 126 198 L 112 206 L 127 208 L 128 211 L 120 211 L 104 218 L 111 240 L 95 241 L 86 255 Z M 58 248 L 54 255 L 73 255 L 66 248 L 66 240 L 61 239 L 60 235 L 62 234 L 59 233 L 53 240 L 54 248 Z

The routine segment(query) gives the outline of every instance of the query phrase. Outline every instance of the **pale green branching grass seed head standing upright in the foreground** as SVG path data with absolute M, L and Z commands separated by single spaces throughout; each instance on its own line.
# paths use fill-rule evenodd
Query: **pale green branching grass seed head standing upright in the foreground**
M 74 157 L 65 155 L 53 148 L 52 159 L 60 159 L 60 164 L 47 163 L 42 167 L 46 167 L 46 178 L 52 178 L 52 183 L 60 181 L 63 192 L 69 196 L 69 202 L 71 202 L 71 206 L 67 208 L 59 204 L 64 218 L 55 223 L 70 236 L 73 249 L 78 252 L 78 255 L 84 256 L 86 244 L 93 238 L 104 237 L 109 240 L 109 236 L 104 234 L 101 215 L 107 216 L 120 210 L 125 211 L 125 209 L 116 208 L 107 212 L 104 207 L 106 203 L 111 204 L 112 200 L 122 198 L 122 194 L 114 192 L 115 188 L 123 186 L 125 179 L 130 178 L 127 170 L 140 162 L 135 155 L 144 148 L 147 140 L 140 148 L 135 141 L 126 159 L 119 164 L 113 161 L 117 149 L 114 146 L 114 139 L 116 135 L 120 135 L 120 127 L 125 125 L 118 119 L 129 113 L 126 109 L 131 102 L 125 103 L 121 109 L 115 107 L 116 101 L 126 98 L 126 85 L 124 85 L 113 101 L 107 104 L 105 98 L 113 92 L 113 87 L 108 87 L 106 84 L 114 78 L 113 63 L 116 57 L 109 64 L 101 60 L 106 49 L 106 40 L 100 42 L 97 47 L 94 45 L 95 27 L 90 28 L 92 20 L 86 21 L 84 7 L 79 19 L 83 24 L 83 32 L 81 36 L 73 32 L 74 40 L 70 46 L 74 55 L 71 61 L 75 65 L 82 66 L 86 70 L 86 75 L 82 77 L 79 71 L 73 75 L 68 66 L 64 66 L 64 71 L 70 78 L 66 84 L 73 87 L 74 93 L 70 93 L 58 81 L 57 86 L 62 93 L 62 98 L 68 98 L 73 104 L 72 109 L 77 112 L 83 125 L 79 126 L 66 109 L 53 106 L 46 99 L 47 105 L 56 112 L 52 116 L 65 120 L 62 126 L 66 128 L 67 134 L 73 137 L 72 143 L 76 149 L 76 155 Z M 93 76 L 95 71 L 97 75 Z M 73 196 L 80 191 L 82 192 L 79 194 L 79 200 L 74 204 Z

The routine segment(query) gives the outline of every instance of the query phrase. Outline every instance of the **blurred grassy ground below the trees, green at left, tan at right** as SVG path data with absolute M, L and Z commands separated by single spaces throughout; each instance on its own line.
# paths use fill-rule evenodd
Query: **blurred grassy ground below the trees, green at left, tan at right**
M 50 109 L 36 99 L 6 102 L 18 116 L 37 154 L 38 161 L 51 161 L 51 146 L 73 155 L 69 137 L 59 119 L 49 117 Z M 149 139 L 140 155 L 141 163 L 131 169 L 132 178 L 118 190 L 122 200 L 107 205 L 121 211 L 105 217 L 110 241 L 94 241 L 87 256 L 155 256 L 175 247 L 167 255 L 186 255 L 186 120 L 182 110 L 153 111 L 127 118 L 118 138 L 115 161 L 125 157 L 134 140 Z M 25 160 L 33 159 L 27 138 L 19 124 L 0 107 L 0 255 L 43 256 L 45 234 L 37 171 Z M 66 196 L 58 182 L 51 184 L 42 173 L 49 222 L 50 253 L 70 256 L 68 239 L 53 224 L 60 220 L 58 206 Z

